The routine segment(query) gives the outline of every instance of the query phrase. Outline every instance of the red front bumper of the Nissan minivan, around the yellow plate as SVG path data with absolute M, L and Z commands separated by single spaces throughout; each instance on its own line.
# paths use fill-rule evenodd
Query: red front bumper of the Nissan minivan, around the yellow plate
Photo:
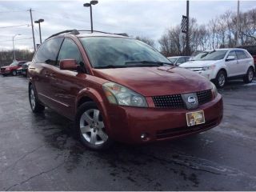
M 186 125 L 186 113 L 203 110 L 206 122 L 198 126 Z M 222 121 L 222 96 L 199 106 L 197 110 L 135 108 L 109 105 L 104 114 L 106 130 L 119 142 L 141 143 L 178 138 L 209 130 Z M 142 139 L 142 134 L 146 138 Z

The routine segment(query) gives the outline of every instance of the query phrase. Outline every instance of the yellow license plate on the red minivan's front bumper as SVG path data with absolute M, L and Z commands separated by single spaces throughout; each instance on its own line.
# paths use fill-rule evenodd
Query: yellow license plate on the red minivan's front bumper
M 205 114 L 203 113 L 203 110 L 186 113 L 187 126 L 196 126 L 205 122 L 206 120 L 205 120 Z

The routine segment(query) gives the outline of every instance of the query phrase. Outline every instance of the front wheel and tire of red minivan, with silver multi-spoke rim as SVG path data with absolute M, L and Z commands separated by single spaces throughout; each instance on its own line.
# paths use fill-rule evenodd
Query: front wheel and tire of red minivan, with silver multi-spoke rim
M 85 102 L 78 107 L 75 130 L 82 144 L 91 150 L 106 150 L 113 143 L 106 134 L 102 114 L 94 102 Z

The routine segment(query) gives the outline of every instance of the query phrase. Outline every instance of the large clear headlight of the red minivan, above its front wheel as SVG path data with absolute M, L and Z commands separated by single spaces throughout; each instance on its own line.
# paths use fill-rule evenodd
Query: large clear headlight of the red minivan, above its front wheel
M 110 103 L 120 106 L 147 107 L 146 98 L 125 86 L 114 82 L 106 82 L 102 87 Z

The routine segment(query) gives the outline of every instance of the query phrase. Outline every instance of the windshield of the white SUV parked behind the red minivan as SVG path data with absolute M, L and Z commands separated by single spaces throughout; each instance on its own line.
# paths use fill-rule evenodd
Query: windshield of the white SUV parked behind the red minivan
M 225 57 L 227 50 L 204 51 L 193 58 L 194 61 L 221 60 Z

